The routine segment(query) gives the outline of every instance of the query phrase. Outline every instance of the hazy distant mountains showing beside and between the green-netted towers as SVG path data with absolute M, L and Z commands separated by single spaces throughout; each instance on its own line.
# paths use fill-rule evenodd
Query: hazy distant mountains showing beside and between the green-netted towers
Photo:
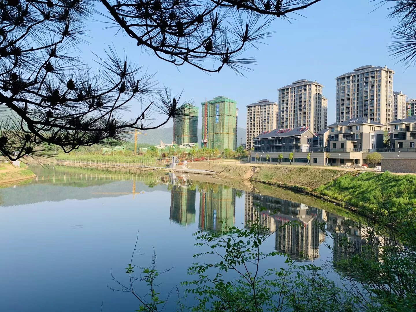
M 145 143 L 145 144 L 152 144 L 158 145 L 160 141 L 163 143 L 172 143 L 173 139 L 173 127 L 171 128 L 163 128 L 163 129 L 153 129 L 146 131 L 146 135 L 139 134 L 137 136 L 137 143 Z M 237 128 L 237 145 L 241 144 L 241 138 L 243 138 L 243 143 L 245 143 L 245 134 L 246 130 L 244 128 Z M 198 129 L 198 144 L 201 144 L 201 136 L 202 129 Z M 131 140 L 134 139 L 134 136 L 131 136 Z

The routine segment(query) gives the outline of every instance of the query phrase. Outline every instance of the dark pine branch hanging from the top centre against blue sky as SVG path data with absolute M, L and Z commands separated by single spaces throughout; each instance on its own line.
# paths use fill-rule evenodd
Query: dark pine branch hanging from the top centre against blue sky
M 206 72 L 228 66 L 240 73 L 254 64 L 242 54 L 270 35 L 273 18 L 289 19 L 320 0 L 100 1 L 115 27 L 144 51 L 176 66 Z

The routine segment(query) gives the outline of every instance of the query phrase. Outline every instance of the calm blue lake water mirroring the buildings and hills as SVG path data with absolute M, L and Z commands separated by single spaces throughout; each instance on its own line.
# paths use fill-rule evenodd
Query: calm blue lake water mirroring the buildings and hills
M 117 288 L 111 273 L 127 282 L 125 269 L 139 235 L 133 264 L 147 266 L 153 250 L 160 276 L 160 292 L 167 293 L 190 280 L 187 268 L 201 247 L 193 245 L 197 230 L 220 230 L 220 220 L 244 227 L 257 204 L 277 213 L 268 219 L 275 230 L 289 220 L 303 227 L 285 227 L 264 245 L 288 253 L 298 261 L 317 265 L 331 260 L 334 246 L 314 220 L 327 229 L 346 218 L 327 203 L 264 187 L 240 191 L 233 183 L 154 173 L 121 174 L 79 168 L 35 167 L 38 177 L 0 189 L 0 311 L 92 312 L 134 311 L 139 302 Z M 198 178 L 197 178 L 198 179 Z M 201 178 L 200 178 L 201 179 Z M 303 202 L 302 202 L 303 201 Z M 262 218 L 267 216 L 267 211 Z M 356 230 L 349 238 L 360 241 Z M 329 246 L 329 247 L 328 247 Z M 284 257 L 262 263 L 283 267 Z M 332 274 L 332 273 L 329 273 Z M 334 275 L 334 279 L 336 276 Z M 145 291 L 137 283 L 138 292 Z M 167 311 L 174 310 L 171 298 Z

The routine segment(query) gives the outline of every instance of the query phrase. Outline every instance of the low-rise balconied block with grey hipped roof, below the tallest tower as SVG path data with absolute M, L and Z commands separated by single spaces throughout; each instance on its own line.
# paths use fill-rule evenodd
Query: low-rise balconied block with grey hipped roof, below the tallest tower
M 384 147 L 384 124 L 362 117 L 336 122 L 329 128 L 330 152 L 376 151 Z

